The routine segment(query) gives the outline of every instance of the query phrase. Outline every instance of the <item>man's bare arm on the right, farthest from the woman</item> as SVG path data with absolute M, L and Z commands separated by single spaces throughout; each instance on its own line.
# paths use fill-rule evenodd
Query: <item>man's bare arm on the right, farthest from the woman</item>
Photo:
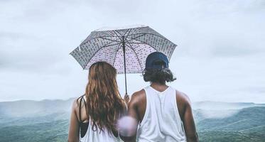
M 177 92 L 178 111 L 183 121 L 185 135 L 188 142 L 198 142 L 198 134 L 193 119 L 193 111 L 191 109 L 190 99 L 182 92 Z

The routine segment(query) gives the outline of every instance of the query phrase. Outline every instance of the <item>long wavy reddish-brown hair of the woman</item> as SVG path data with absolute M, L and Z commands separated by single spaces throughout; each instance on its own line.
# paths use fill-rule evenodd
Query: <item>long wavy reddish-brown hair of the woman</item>
M 92 130 L 115 131 L 117 116 L 124 110 L 116 81 L 117 71 L 107 62 L 96 62 L 90 67 L 85 90 L 87 97 L 87 117 L 92 122 Z

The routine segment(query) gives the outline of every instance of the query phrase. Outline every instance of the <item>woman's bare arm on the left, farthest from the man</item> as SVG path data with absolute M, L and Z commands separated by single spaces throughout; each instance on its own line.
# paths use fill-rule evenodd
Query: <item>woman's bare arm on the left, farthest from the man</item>
M 68 142 L 79 141 L 79 121 L 77 118 L 77 101 L 72 103 L 72 112 L 69 126 Z

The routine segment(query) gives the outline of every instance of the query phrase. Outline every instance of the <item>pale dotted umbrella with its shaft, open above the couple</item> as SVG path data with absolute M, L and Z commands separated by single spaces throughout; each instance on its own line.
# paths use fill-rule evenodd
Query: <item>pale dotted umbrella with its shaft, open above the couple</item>
M 94 62 L 108 62 L 119 74 L 125 74 L 126 87 L 126 73 L 143 72 L 150 53 L 164 53 L 170 60 L 175 47 L 174 43 L 152 28 L 136 26 L 92 31 L 70 55 L 84 70 Z

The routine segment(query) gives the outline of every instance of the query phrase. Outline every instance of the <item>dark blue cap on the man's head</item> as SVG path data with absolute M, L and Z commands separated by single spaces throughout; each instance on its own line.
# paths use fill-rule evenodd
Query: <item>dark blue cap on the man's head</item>
M 158 65 L 156 62 L 163 62 L 163 65 Z M 168 68 L 168 57 L 161 52 L 154 52 L 147 56 L 146 58 L 146 69 L 154 68 L 154 69 L 162 69 Z

